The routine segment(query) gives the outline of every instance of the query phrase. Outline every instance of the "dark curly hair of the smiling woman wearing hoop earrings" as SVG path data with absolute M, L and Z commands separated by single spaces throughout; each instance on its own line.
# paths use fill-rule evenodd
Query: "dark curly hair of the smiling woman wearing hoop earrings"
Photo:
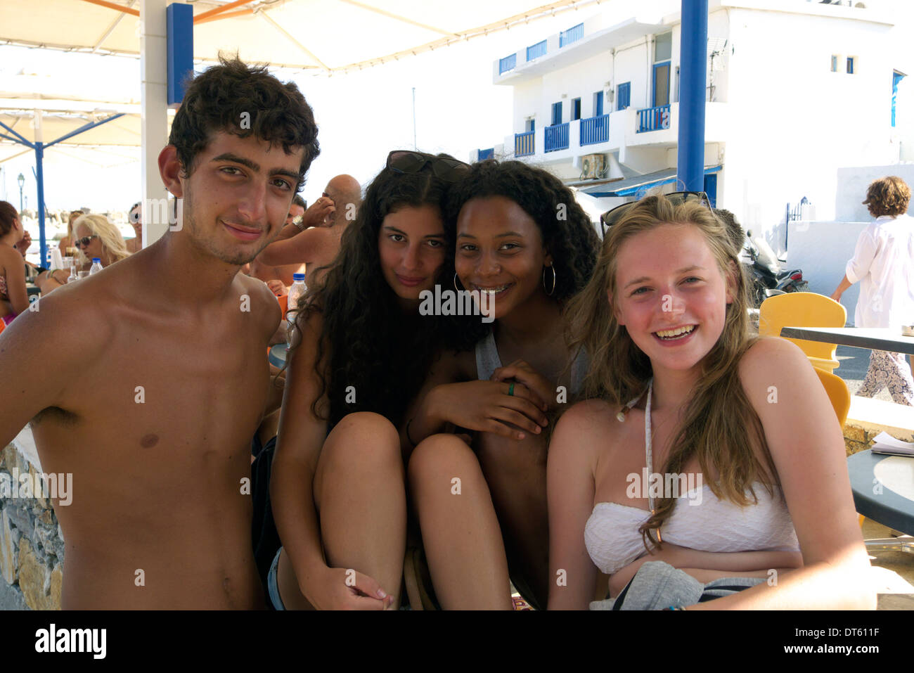
M 539 228 L 556 271 L 553 294 L 560 304 L 578 294 L 597 263 L 600 239 L 590 218 L 558 177 L 521 161 L 486 159 L 473 164 L 447 200 L 444 230 L 456 247 L 457 218 L 472 198 L 505 197 L 524 208 Z

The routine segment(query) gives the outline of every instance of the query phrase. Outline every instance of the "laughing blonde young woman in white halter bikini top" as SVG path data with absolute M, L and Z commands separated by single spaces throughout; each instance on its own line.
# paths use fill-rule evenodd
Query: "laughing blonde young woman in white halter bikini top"
M 549 607 L 875 607 L 841 428 L 798 347 L 749 337 L 707 198 L 614 215 L 568 307 L 591 369 L 549 446 Z

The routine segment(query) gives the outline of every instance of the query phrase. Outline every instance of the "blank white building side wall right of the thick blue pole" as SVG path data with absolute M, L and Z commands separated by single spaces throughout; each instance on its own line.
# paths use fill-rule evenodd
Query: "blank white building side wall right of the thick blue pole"
M 728 105 L 732 113 L 720 194 L 744 226 L 781 228 L 786 203 L 813 201 L 834 219 L 837 168 L 891 158 L 890 26 L 837 16 L 731 8 Z M 855 74 L 831 56 L 856 57 Z

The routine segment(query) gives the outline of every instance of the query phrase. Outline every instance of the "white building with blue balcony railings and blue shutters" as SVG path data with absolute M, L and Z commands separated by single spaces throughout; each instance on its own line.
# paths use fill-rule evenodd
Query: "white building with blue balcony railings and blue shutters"
M 893 84 L 914 80 L 898 84 L 914 75 L 902 11 L 914 3 L 836 2 L 709 0 L 706 191 L 781 253 L 788 204 L 848 218 L 842 205 L 865 195 L 839 193 L 844 173 L 914 159 L 914 107 L 893 126 Z M 513 129 L 479 155 L 547 167 L 607 208 L 664 182 L 674 191 L 680 6 L 606 0 L 495 60 L 494 82 L 514 88 Z

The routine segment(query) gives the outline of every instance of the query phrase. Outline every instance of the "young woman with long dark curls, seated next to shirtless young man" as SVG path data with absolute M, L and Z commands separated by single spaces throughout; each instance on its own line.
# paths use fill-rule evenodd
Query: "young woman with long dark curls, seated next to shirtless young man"
M 398 428 L 436 349 L 464 330 L 420 315 L 452 275 L 443 198 L 469 166 L 391 152 L 324 282 L 300 304 L 271 474 L 278 609 L 396 608 L 407 536 Z

